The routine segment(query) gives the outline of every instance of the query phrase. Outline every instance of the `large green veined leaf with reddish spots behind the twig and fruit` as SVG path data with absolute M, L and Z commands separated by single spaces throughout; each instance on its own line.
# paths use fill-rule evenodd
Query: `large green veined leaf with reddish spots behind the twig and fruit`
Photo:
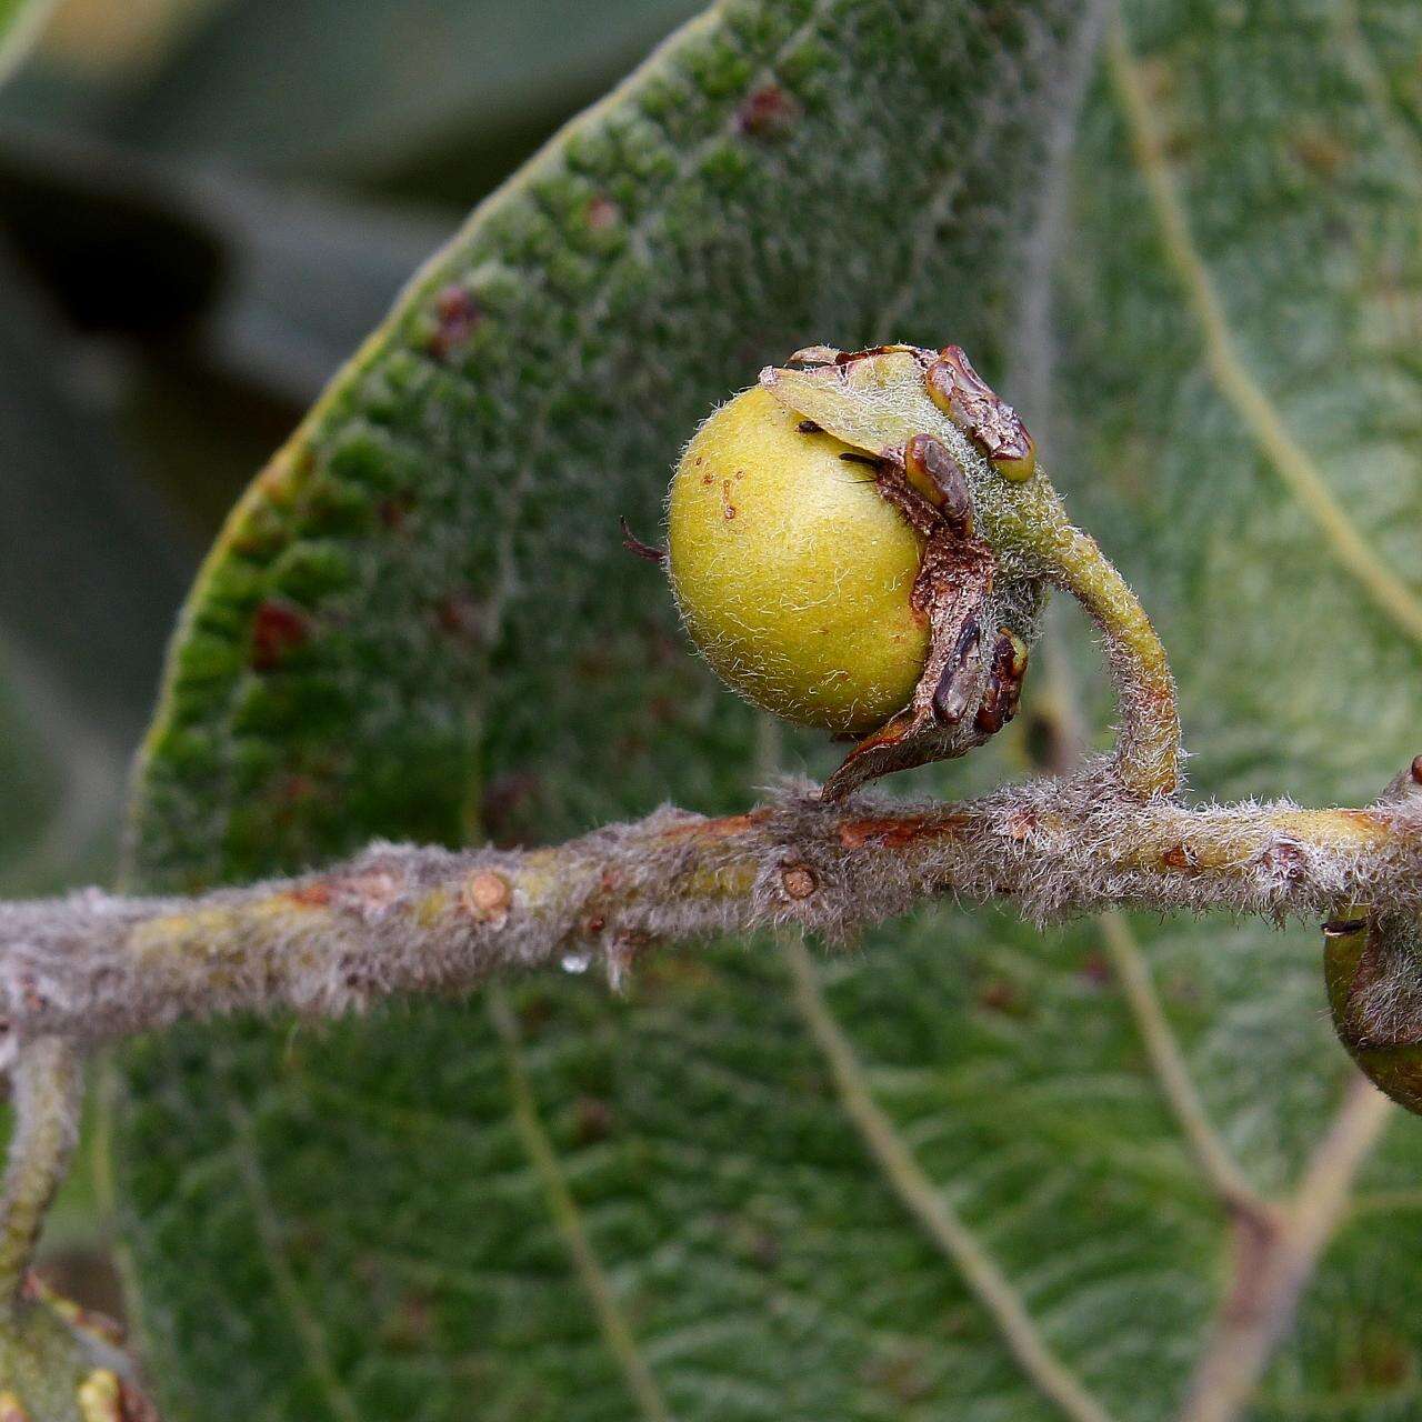
M 958 340 L 1022 405 L 1159 614 L 1203 792 L 1381 789 L 1418 749 L 1418 647 L 1277 434 L 1415 594 L 1422 14 L 1130 7 L 1142 57 L 1078 132 L 1096 18 L 728 4 L 566 131 L 233 516 L 148 742 L 135 883 L 744 805 L 769 737 L 616 516 L 650 532 L 698 415 L 811 340 Z M 1152 182 L 1132 82 L 1167 139 Z M 1079 626 L 1054 646 L 1054 700 L 1082 687 L 1103 735 Z M 1327 1135 L 1349 1068 L 1317 944 L 1138 933 L 1216 1150 L 1277 1199 L 1313 1163 L 1280 1219 L 1331 1241 L 1223 1415 L 1406 1415 L 1422 1138 L 1379 1146 L 1367 1096 Z M 1112 1416 L 1172 1416 L 1271 1234 L 1236 1230 L 1182 1132 L 1135 963 L 1119 924 L 941 907 L 808 974 L 727 944 L 654 956 L 624 1000 L 570 971 L 148 1041 L 112 1158 L 169 1415 L 1059 1418 L 1020 1308 Z

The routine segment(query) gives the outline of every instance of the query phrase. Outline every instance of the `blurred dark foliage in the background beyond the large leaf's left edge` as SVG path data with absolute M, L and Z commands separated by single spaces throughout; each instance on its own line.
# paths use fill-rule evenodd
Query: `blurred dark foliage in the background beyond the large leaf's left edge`
M 111 877 L 237 493 L 469 208 L 698 9 L 31 4 L 0 47 L 0 893 Z M 117 1310 L 84 1169 L 48 1254 Z

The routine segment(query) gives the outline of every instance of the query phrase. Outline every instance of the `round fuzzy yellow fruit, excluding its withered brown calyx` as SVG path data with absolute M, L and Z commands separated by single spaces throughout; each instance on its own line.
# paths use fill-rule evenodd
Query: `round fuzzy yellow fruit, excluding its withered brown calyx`
M 923 543 L 830 435 L 769 391 L 722 405 L 671 481 L 681 617 L 712 668 L 786 721 L 872 731 L 913 695 L 927 621 L 909 594 Z

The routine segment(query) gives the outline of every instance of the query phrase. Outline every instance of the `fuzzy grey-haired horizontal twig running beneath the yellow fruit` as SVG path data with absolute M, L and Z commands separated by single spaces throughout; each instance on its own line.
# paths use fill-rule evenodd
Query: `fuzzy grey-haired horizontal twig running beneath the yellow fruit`
M 13 1052 L 230 1012 L 328 1017 L 567 951 L 620 970 L 654 940 L 776 923 L 842 940 L 941 896 L 1014 902 L 1038 921 L 1112 906 L 1415 913 L 1419 799 L 1185 809 L 1125 795 L 1096 761 L 958 805 L 825 805 L 793 786 L 745 815 L 663 809 L 550 849 L 375 845 L 191 899 L 87 890 L 0 904 L 0 1030 Z

